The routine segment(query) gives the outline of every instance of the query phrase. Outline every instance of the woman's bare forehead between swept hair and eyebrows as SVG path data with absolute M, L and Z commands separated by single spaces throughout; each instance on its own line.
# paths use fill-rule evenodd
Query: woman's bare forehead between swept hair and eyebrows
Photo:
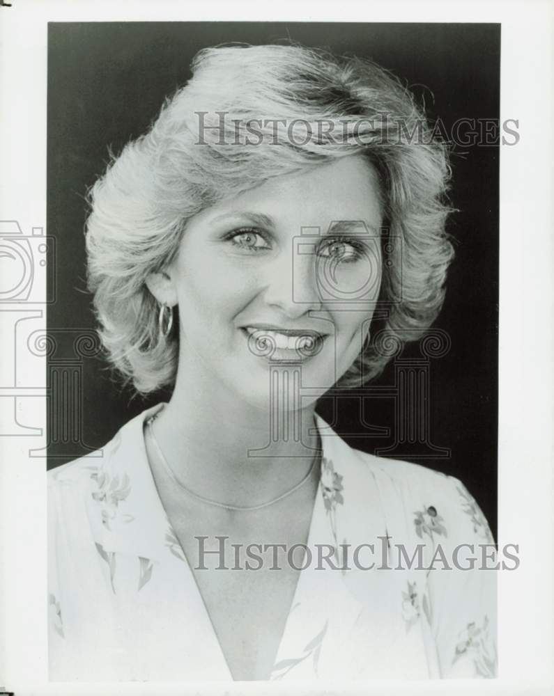
M 360 220 L 378 228 L 382 219 L 378 176 L 369 160 L 361 155 L 273 177 L 206 212 L 210 217 L 243 212 L 263 214 L 277 226 L 293 226 L 295 230 Z

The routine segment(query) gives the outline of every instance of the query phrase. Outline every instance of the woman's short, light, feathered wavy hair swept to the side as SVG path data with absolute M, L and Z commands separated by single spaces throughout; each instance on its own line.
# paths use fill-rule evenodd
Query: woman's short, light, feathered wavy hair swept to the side
M 413 94 L 371 61 L 299 45 L 203 49 L 192 78 L 89 189 L 88 283 L 111 364 L 138 393 L 174 386 L 178 331 L 160 338 L 146 278 L 175 258 L 192 216 L 270 177 L 362 152 L 380 182 L 383 249 L 389 237 L 401 244 L 386 250 L 378 307 L 387 310 L 339 383 L 376 377 L 391 357 L 383 336 L 421 338 L 443 304 L 450 168 L 432 135 Z

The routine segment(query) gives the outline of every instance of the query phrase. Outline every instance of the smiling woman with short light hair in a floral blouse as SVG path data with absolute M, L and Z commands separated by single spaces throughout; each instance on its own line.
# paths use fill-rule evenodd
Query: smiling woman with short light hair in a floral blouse
M 172 395 L 50 475 L 51 679 L 492 677 L 494 574 L 459 553 L 492 541 L 475 500 L 315 412 L 440 310 L 445 148 L 372 63 L 193 68 L 91 191 L 103 344 Z

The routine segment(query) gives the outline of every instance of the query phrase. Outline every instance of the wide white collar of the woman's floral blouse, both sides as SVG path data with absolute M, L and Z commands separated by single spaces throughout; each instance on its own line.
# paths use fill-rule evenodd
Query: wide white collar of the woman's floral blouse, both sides
M 171 525 L 157 492 L 144 443 L 146 420 L 163 406 L 162 403 L 146 409 L 126 423 L 104 448 L 104 461 L 92 475 L 89 503 L 93 537 L 107 553 L 127 553 L 157 561 L 168 560 L 170 556 L 167 535 L 171 536 Z M 348 491 L 348 496 L 344 491 L 344 477 L 355 467 L 356 453 L 321 416 L 316 415 L 316 427 L 323 456 L 309 543 L 339 544 L 342 541 L 339 532 L 346 535 L 345 525 L 349 537 L 364 533 L 362 528 L 357 532 L 352 529 L 353 525 L 360 525 L 359 515 L 353 509 L 359 511 L 359 507 L 349 505 L 356 495 L 355 487 Z M 355 480 L 353 475 L 346 478 Z M 375 502 L 378 505 L 378 500 Z M 371 509 L 371 501 L 367 504 Z

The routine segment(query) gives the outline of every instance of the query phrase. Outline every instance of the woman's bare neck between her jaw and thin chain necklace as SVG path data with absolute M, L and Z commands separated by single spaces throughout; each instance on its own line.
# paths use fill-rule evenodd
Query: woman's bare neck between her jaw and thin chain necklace
M 155 434 L 178 480 L 243 507 L 279 496 L 306 475 L 319 448 L 314 415 L 314 404 L 257 409 L 206 375 L 200 379 L 198 370 L 179 370 Z

